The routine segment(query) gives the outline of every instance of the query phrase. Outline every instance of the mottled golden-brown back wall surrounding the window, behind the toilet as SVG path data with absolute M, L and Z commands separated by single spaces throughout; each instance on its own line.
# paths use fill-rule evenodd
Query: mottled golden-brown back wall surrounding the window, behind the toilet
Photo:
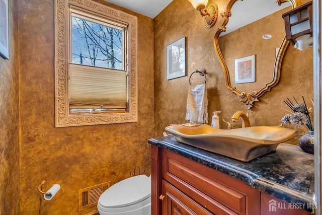
M 46 180 L 44 191 L 55 183 L 61 189 L 52 200 L 42 201 L 41 214 L 87 214 L 97 208 L 78 212 L 78 189 L 107 181 L 114 184 L 128 178 L 135 166 L 141 167 L 141 173 L 145 170 L 146 175 L 150 174 L 147 140 L 153 136 L 153 94 L 146 92 L 153 92 L 153 20 L 97 0 L 138 17 L 138 122 L 55 128 L 54 2 L 57 1 L 17 3 L 21 209 L 22 214 L 38 214 L 37 187 Z M 12 103 L 15 107 L 17 102 Z M 14 197 L 19 201 L 19 195 Z

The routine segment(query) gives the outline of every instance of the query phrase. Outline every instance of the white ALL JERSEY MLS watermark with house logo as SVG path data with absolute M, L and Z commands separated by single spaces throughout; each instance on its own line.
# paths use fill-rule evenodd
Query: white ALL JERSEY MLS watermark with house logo
M 268 202 L 268 211 L 276 212 L 282 209 L 315 209 L 314 202 L 276 202 L 271 199 Z

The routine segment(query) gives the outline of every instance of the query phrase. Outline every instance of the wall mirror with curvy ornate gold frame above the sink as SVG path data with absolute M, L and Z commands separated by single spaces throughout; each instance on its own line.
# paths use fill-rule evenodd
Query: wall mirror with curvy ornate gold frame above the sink
M 274 4 L 272 11 L 264 14 L 260 9 L 268 11 L 269 2 Z M 221 14 L 224 21 L 214 37 L 215 51 L 227 89 L 239 96 L 248 109 L 279 81 L 283 55 L 290 44 L 285 39 L 282 14 L 299 5 L 299 0 L 231 0 Z M 249 20 L 246 15 L 250 15 Z M 241 20 L 245 23 L 240 26 Z

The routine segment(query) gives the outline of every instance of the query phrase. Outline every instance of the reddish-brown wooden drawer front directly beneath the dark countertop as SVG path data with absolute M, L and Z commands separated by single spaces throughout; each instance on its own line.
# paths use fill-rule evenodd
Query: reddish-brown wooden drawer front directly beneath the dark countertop
M 180 190 L 188 192 L 187 194 L 192 195 L 194 199 L 197 198 L 196 200 L 205 207 L 214 208 L 215 213 L 218 213 L 218 209 L 223 211 L 227 207 L 231 212 L 237 214 L 252 214 L 250 210 L 254 210 L 254 208 L 247 207 L 247 203 L 250 203 L 252 198 L 258 197 L 257 201 L 260 199 L 259 191 L 209 167 L 166 150 L 163 150 L 162 158 L 163 178 Z M 197 191 L 192 192 L 192 189 L 187 188 L 188 185 L 200 191 L 208 199 L 207 197 L 200 198 Z M 238 191 L 234 187 L 238 188 Z M 244 187 L 241 192 L 239 191 L 240 187 Z M 205 199 L 211 201 L 207 202 Z M 252 204 L 252 207 L 254 206 L 260 208 L 259 204 Z

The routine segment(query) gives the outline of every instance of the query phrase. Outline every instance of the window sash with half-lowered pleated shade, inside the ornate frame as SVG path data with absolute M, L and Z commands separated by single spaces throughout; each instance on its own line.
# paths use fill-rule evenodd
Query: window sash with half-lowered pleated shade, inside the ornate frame
M 127 110 L 127 25 L 70 9 L 70 113 Z

